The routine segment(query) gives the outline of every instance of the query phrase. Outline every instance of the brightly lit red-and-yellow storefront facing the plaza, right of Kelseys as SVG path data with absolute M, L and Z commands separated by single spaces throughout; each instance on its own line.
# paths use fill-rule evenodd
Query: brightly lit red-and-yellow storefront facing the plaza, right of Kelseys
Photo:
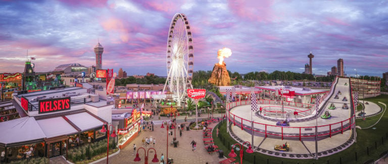
M 138 135 L 140 131 L 140 121 L 140 111 L 133 109 L 130 116 L 124 118 L 122 124 L 119 123 L 117 129 L 117 144 L 120 148 L 124 148 Z

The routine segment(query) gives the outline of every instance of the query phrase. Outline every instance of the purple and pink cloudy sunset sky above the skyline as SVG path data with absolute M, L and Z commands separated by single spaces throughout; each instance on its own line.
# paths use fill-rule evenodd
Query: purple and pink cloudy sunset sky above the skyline
M 351 76 L 388 71 L 387 1 L 0 0 L 0 72 L 22 72 L 27 49 L 38 72 L 95 65 L 100 41 L 104 69 L 166 76 L 176 13 L 190 24 L 195 71 L 212 70 L 223 47 L 232 72 L 301 73 L 310 52 L 315 74 L 339 58 Z

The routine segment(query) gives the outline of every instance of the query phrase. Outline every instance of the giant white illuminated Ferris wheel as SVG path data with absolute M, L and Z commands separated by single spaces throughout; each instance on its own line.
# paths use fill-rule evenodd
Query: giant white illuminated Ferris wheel
M 191 28 L 186 16 L 175 14 L 167 38 L 167 79 L 163 92 L 169 89 L 178 105 L 187 95 L 186 89 L 192 89 L 192 45 Z

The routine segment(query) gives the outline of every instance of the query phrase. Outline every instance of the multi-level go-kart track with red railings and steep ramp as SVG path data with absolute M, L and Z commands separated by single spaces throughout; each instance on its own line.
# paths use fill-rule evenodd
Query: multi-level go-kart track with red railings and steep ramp
M 229 111 L 228 121 L 231 125 L 229 127 L 230 134 L 238 142 L 251 141 L 251 119 L 253 119 L 256 151 L 279 157 L 312 158 L 315 154 L 315 127 L 317 125 L 318 156 L 341 151 L 354 142 L 354 134 L 351 129 L 355 127 L 355 111 L 350 87 L 349 78 L 337 77 L 330 92 L 322 96 L 323 100 L 319 105 L 317 115 L 315 105 L 301 105 L 300 107 L 295 103 L 284 105 L 284 111 L 288 111 L 287 124 L 289 126 L 286 124 L 276 126 L 277 122 L 286 120 L 286 113 L 284 112 L 284 116 L 281 113 L 281 104 L 266 104 L 265 101 L 258 101 L 258 107 L 263 107 L 263 111 L 253 113 L 250 101 L 229 103 L 227 111 Z M 338 91 L 341 91 L 342 94 L 338 95 L 339 99 L 334 99 Z M 347 101 L 343 101 L 344 97 L 347 98 Z M 375 107 L 371 105 L 373 103 L 369 103 L 367 106 Z M 335 109 L 328 109 L 331 104 L 334 104 Z M 343 109 L 344 104 L 347 104 L 349 108 Z M 292 111 L 300 114 L 296 116 Z M 330 118 L 321 118 L 325 111 L 330 113 Z M 373 112 L 375 111 L 378 112 L 378 110 L 373 110 Z M 369 115 L 368 112 L 366 113 Z M 241 122 L 243 126 L 241 126 Z M 285 142 L 289 143 L 289 151 L 274 149 L 275 145 L 282 145 Z

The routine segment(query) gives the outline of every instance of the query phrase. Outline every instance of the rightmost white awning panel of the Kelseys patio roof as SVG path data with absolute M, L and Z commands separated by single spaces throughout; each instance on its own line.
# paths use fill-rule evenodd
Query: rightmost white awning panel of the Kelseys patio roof
M 95 128 L 96 126 L 103 126 L 103 122 L 99 119 L 96 119 L 87 112 L 72 114 L 66 116 L 71 122 L 73 122 L 77 127 L 82 131 Z

